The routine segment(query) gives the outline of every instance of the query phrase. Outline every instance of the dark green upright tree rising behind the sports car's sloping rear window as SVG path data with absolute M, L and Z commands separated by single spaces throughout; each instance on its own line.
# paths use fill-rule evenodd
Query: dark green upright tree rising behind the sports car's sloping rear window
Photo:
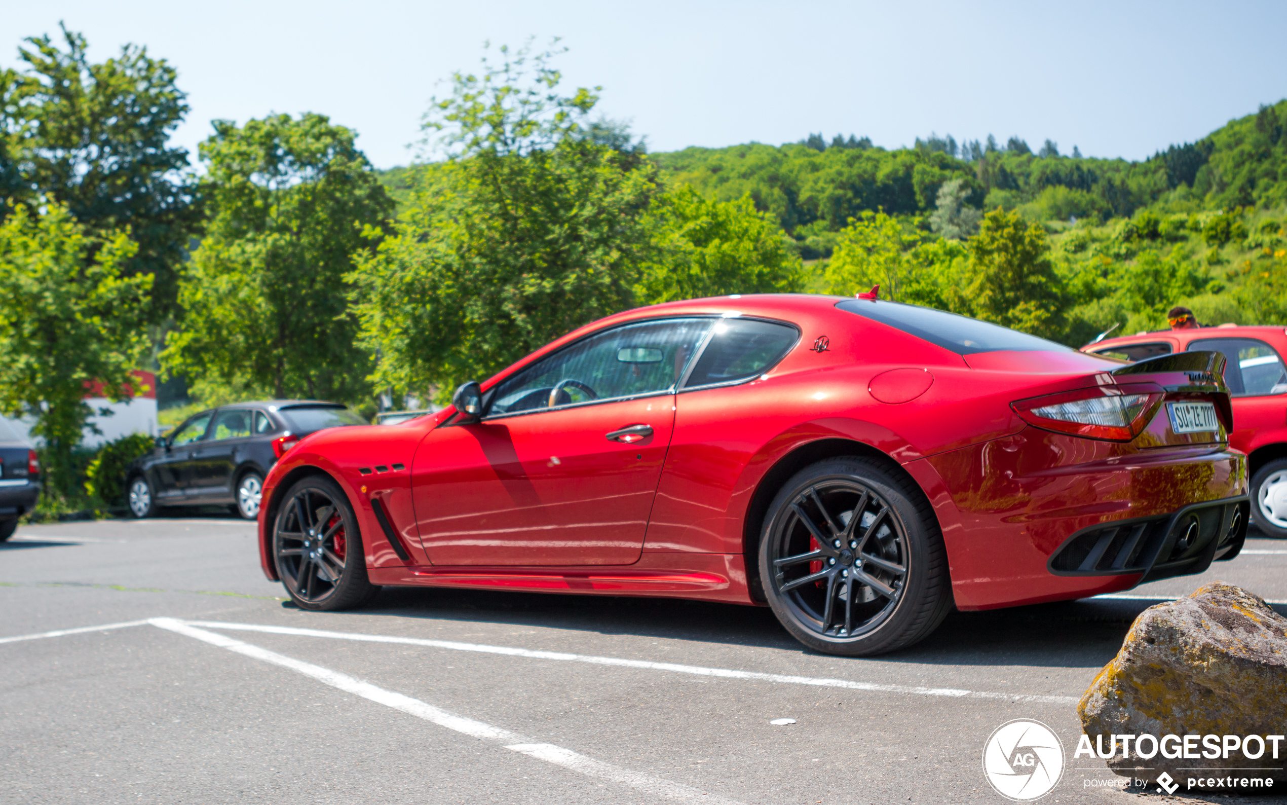
M 1018 213 L 992 210 L 967 249 L 973 316 L 1042 337 L 1062 335 L 1064 282 L 1054 270 L 1040 225 L 1028 224 Z

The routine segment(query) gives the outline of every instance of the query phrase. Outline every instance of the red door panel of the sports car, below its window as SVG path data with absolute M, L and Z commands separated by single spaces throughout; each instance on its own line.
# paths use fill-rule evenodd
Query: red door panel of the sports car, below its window
M 674 421 L 673 398 L 606 402 L 435 430 L 412 492 L 435 565 L 631 564 Z M 606 434 L 649 425 L 650 435 Z

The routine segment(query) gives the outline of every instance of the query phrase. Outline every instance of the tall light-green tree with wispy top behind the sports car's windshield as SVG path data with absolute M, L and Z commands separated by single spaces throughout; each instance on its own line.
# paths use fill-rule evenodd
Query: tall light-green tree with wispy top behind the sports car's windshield
M 589 122 L 597 88 L 562 95 L 553 54 L 501 53 L 434 102 L 448 158 L 350 276 L 382 388 L 449 393 L 628 308 L 655 254 L 655 169 Z

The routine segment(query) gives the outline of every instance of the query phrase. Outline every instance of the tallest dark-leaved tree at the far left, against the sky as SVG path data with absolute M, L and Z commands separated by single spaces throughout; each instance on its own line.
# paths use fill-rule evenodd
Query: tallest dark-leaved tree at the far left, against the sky
M 154 278 L 151 319 L 160 323 L 175 312 L 184 250 L 201 224 L 188 152 L 169 142 L 187 95 L 174 67 L 144 48 L 91 63 L 84 36 L 62 35 L 64 48 L 27 39 L 22 70 L 0 71 L 0 201 L 50 198 L 108 238 L 127 229 L 138 249 L 124 270 Z

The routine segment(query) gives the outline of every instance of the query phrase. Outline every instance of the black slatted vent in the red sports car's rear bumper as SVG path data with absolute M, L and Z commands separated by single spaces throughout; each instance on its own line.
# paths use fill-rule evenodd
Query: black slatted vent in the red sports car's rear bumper
M 1120 520 L 1079 531 L 1046 564 L 1055 576 L 1126 576 L 1140 582 L 1201 573 L 1212 559 L 1233 558 L 1246 536 L 1248 504 L 1230 498 L 1196 504 L 1156 518 Z

